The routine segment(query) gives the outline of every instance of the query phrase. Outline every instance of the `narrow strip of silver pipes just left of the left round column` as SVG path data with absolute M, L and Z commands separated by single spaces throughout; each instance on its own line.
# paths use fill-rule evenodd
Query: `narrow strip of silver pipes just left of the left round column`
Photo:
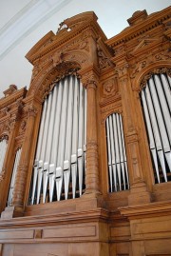
M 20 163 L 21 151 L 22 151 L 22 148 L 18 148 L 15 153 L 14 165 L 12 168 L 12 175 L 11 175 L 11 181 L 10 181 L 9 198 L 8 198 L 8 203 L 7 203 L 8 206 L 10 206 L 10 204 L 12 202 L 12 198 L 13 198 L 13 188 L 14 188 L 14 184 L 15 184 L 17 167 Z

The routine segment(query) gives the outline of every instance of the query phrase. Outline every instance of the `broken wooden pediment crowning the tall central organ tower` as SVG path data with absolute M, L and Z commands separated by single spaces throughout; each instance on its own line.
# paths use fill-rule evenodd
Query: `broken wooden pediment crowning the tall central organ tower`
M 93 24 L 96 26 L 97 34 L 106 40 L 104 31 L 98 25 L 97 19 L 98 18 L 93 11 L 86 11 L 66 19 L 59 25 L 56 34 L 49 31 L 41 40 L 39 40 L 39 42 L 28 51 L 26 58 L 33 64 L 35 60 L 40 59 L 53 49 L 57 49 L 62 45 L 64 46 L 71 38 L 78 35 L 78 32 L 81 33 L 87 27 L 93 26 Z

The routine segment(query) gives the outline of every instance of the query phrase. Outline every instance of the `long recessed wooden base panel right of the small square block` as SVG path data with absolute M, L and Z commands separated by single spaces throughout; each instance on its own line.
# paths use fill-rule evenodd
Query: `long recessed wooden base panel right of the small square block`
M 76 226 L 73 228 L 49 228 L 43 230 L 43 238 L 88 237 L 96 235 L 96 226 Z

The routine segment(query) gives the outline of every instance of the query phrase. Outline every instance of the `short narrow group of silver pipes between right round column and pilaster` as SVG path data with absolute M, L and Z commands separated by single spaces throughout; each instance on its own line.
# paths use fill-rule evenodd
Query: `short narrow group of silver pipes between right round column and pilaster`
M 123 138 L 123 121 L 113 113 L 105 121 L 110 192 L 129 188 L 129 178 Z

